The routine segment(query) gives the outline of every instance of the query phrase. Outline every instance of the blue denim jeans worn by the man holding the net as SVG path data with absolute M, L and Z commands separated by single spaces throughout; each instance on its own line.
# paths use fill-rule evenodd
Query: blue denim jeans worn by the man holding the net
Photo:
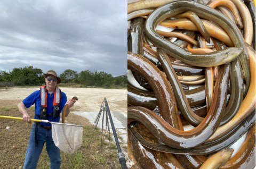
M 33 124 L 33 127 L 31 129 L 23 169 L 36 168 L 39 156 L 44 147 L 44 142 L 46 143 L 47 154 L 50 158 L 51 169 L 60 168 L 60 149 L 55 146 L 54 141 L 52 140 L 52 130 L 44 129 L 41 128 L 41 126 L 37 126 L 38 147 L 35 146 L 35 130 L 36 123 Z

